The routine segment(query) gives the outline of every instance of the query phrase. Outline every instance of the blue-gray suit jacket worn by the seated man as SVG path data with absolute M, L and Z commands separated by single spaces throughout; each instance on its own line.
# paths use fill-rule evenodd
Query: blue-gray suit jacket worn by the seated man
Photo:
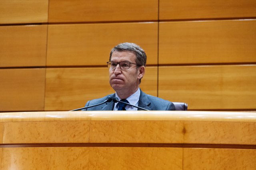
M 108 96 L 111 96 L 114 98 L 116 95 L 115 94 L 110 94 Z M 95 104 L 102 103 L 106 100 L 106 97 L 100 98 L 100 99 L 94 99 L 94 100 L 89 100 L 85 106 L 92 106 Z M 105 104 L 102 104 L 100 106 L 95 106 L 95 107 L 90 107 L 88 109 L 83 109 L 84 111 L 86 110 L 113 110 L 114 109 L 114 102 L 108 102 Z M 169 102 L 168 100 L 164 100 L 161 98 L 157 98 L 155 96 L 148 95 L 140 90 L 140 99 L 139 99 L 139 107 L 148 109 L 148 110 L 175 110 L 175 106 L 172 102 Z M 141 110 L 141 109 L 138 109 Z

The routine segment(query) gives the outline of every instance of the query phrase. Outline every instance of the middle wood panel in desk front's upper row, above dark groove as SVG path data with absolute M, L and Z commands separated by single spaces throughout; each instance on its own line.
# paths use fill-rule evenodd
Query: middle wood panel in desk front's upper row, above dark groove
M 91 121 L 90 126 L 90 143 L 183 143 L 183 135 L 182 121 Z

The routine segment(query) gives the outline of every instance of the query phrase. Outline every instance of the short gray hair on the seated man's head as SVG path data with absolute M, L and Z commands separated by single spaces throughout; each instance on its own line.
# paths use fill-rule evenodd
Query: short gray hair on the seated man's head
M 146 62 L 147 62 L 146 53 L 137 44 L 121 43 L 121 44 L 116 45 L 116 47 L 112 48 L 112 50 L 110 52 L 109 61 L 111 60 L 111 57 L 112 57 L 112 54 L 114 53 L 114 51 L 131 51 L 136 55 L 136 60 L 135 60 L 136 64 L 138 64 L 139 66 L 146 66 Z

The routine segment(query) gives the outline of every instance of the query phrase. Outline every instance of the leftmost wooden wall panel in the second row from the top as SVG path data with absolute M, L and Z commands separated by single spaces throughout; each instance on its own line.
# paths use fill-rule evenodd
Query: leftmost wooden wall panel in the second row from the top
M 0 67 L 46 65 L 46 25 L 2 26 L 0 35 Z

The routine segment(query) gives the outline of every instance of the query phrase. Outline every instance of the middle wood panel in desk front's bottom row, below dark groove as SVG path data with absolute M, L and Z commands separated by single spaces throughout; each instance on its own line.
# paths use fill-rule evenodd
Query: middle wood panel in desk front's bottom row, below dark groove
M 89 169 L 182 169 L 182 148 L 94 147 Z

